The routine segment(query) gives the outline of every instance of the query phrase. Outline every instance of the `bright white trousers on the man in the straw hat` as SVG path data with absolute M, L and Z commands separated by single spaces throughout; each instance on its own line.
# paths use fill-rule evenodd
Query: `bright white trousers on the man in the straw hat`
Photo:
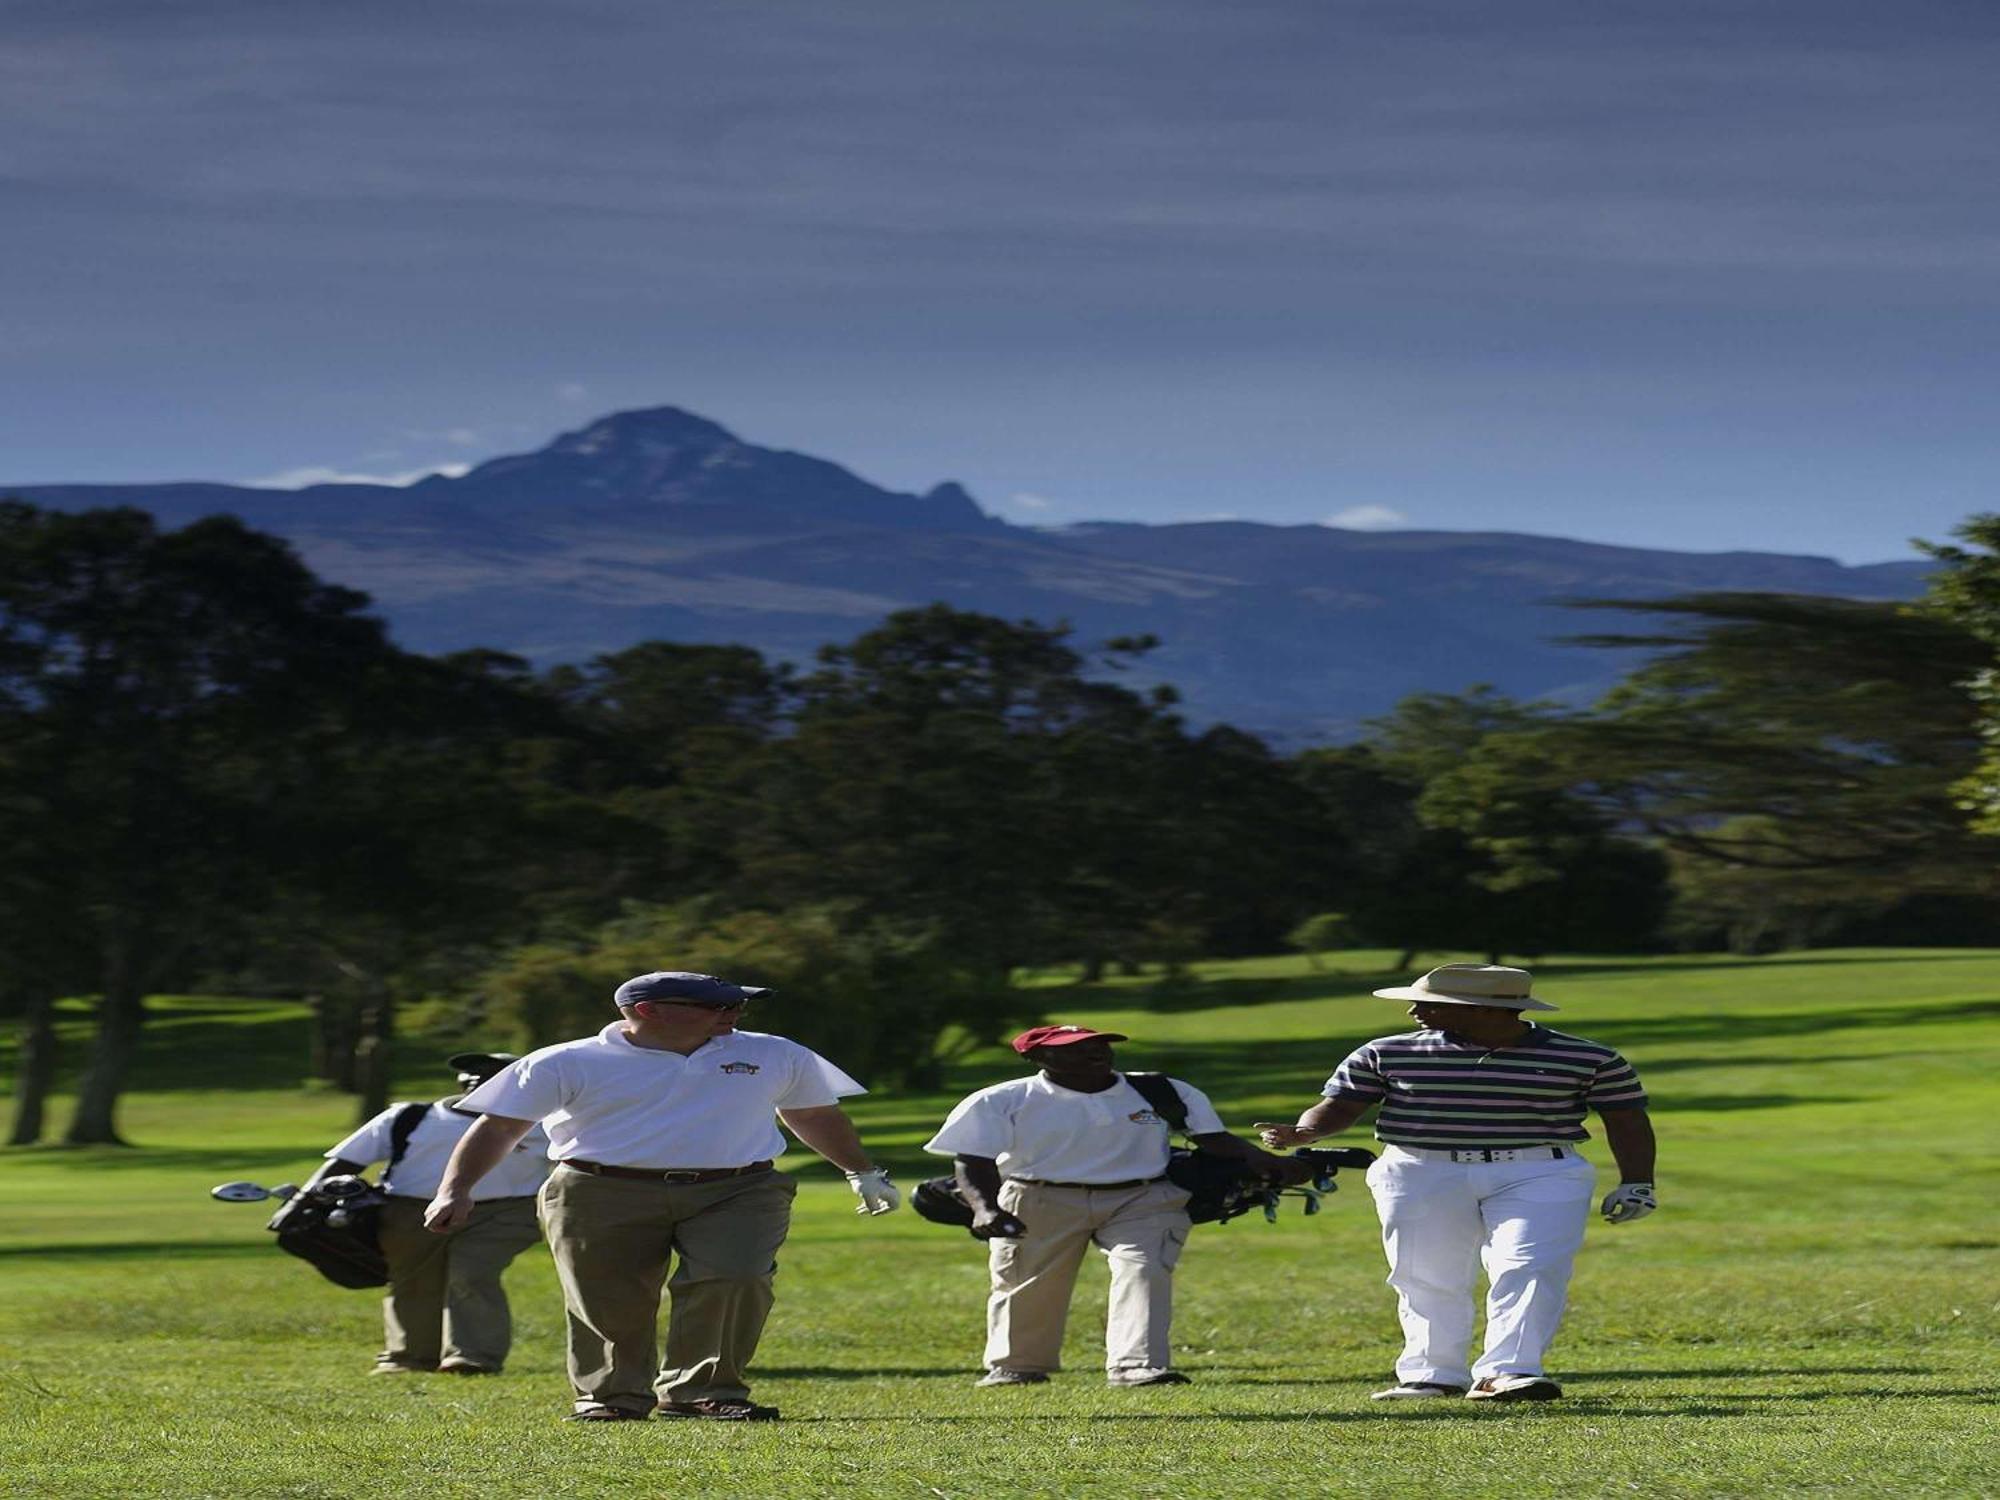
M 1596 1174 L 1564 1148 L 1514 1162 L 1454 1162 L 1450 1152 L 1386 1146 L 1368 1168 L 1382 1218 L 1388 1284 L 1402 1318 L 1398 1380 L 1470 1386 L 1490 1376 L 1546 1374 L 1584 1244 Z M 1486 1268 L 1486 1350 L 1472 1350 L 1472 1292 Z

